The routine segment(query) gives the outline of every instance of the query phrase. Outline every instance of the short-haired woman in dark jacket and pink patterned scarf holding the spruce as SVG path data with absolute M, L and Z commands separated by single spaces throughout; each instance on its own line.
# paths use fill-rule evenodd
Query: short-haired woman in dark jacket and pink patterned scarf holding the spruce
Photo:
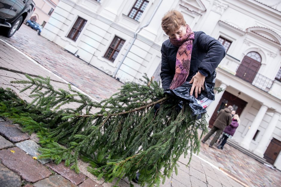
M 167 12 L 161 26 L 169 36 L 161 47 L 162 88 L 175 89 L 189 81 L 190 95 L 194 91 L 197 98 L 204 90 L 205 77 L 216 74 L 216 67 L 225 57 L 225 48 L 204 32 L 193 32 L 179 11 Z

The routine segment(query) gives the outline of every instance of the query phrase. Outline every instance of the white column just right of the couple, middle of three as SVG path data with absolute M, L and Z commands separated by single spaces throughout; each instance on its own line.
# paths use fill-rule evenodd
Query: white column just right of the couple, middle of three
M 247 134 L 245 135 L 244 139 L 241 142 L 241 146 L 244 147 L 245 149 L 249 149 L 250 143 L 256 133 L 256 130 L 258 129 L 260 123 L 262 122 L 262 119 L 267 109 L 268 107 L 265 105 L 262 105 L 260 107 L 259 112 L 256 115 L 256 118 L 252 122 L 251 128 L 248 130 Z

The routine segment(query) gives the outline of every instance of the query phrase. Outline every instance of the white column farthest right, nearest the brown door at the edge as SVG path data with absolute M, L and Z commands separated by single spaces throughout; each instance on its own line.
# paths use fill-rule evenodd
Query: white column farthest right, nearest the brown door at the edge
M 268 127 L 265 129 L 265 132 L 262 135 L 262 139 L 259 141 L 259 145 L 254 150 L 254 153 L 259 157 L 263 157 L 263 154 L 266 150 L 266 146 L 268 145 L 268 141 L 271 138 L 271 135 L 278 123 L 279 118 L 280 114 L 278 112 L 274 112 L 274 115 L 272 116 Z

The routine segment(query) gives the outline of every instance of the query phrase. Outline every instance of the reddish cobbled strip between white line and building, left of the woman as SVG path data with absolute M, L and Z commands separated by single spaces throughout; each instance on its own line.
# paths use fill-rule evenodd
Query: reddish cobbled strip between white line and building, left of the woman
M 106 73 L 64 51 L 60 46 L 37 35 L 35 30 L 25 24 L 13 37 L 0 36 L 0 38 L 98 101 L 110 97 L 123 85 L 111 76 L 107 76 Z M 25 68 L 28 69 L 28 67 Z M 41 72 L 38 74 L 41 75 Z

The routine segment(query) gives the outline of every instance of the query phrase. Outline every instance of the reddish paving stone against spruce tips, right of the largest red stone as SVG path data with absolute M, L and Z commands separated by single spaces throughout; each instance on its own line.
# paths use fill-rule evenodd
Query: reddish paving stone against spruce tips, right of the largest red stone
M 46 166 L 48 166 L 58 174 L 61 174 L 63 177 L 70 180 L 76 185 L 82 183 L 86 179 L 86 176 L 84 174 L 77 174 L 74 170 L 71 170 L 69 167 L 65 167 L 64 162 L 59 163 L 59 165 L 56 165 L 54 162 L 50 162 L 47 163 Z

